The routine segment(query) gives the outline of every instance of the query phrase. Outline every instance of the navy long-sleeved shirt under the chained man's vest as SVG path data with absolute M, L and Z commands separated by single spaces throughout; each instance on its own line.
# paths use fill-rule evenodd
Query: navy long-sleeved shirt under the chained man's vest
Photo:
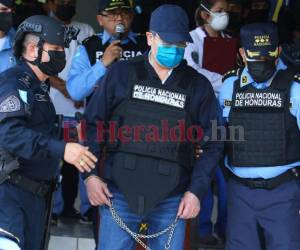
M 159 79 L 156 72 L 152 68 L 148 60 L 148 53 L 144 53 L 144 60 L 146 62 L 146 70 L 150 81 L 160 86 L 172 86 L 176 82 L 182 72 L 186 71 L 188 67 L 183 61 L 178 67 L 173 69 L 171 75 L 164 83 Z M 87 123 L 87 145 L 92 153 L 100 155 L 102 152 L 102 145 L 99 144 L 97 138 L 96 121 L 108 121 L 114 108 L 120 104 L 128 93 L 128 78 L 130 75 L 130 61 L 122 61 L 112 65 L 108 69 L 106 75 L 97 83 L 96 88 L 89 104 L 86 107 L 84 118 Z M 216 121 L 220 124 L 220 109 L 219 104 L 214 95 L 214 91 L 210 82 L 201 74 L 194 71 L 191 79 L 186 79 L 192 82 L 195 88 L 193 96 L 190 99 L 190 112 L 194 124 L 203 128 L 203 134 L 211 136 L 211 121 Z M 159 99 L 159 98 L 158 98 Z M 218 164 L 220 153 L 223 150 L 223 143 L 218 141 L 209 141 L 203 146 L 204 153 L 196 161 L 193 168 L 192 179 L 190 180 L 190 173 L 180 176 L 181 185 L 179 185 L 178 192 L 188 190 L 195 193 L 199 198 L 205 194 L 209 183 L 211 181 L 211 173 Z M 105 162 L 104 178 L 109 182 L 111 180 L 111 164 L 113 157 L 109 155 Z M 96 170 L 91 173 L 84 174 L 84 178 L 90 175 L 98 175 Z

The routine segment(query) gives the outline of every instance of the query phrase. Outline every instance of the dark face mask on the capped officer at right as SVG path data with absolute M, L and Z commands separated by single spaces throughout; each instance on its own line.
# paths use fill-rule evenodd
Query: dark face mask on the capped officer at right
M 257 83 L 266 82 L 276 71 L 275 60 L 248 61 L 249 74 Z

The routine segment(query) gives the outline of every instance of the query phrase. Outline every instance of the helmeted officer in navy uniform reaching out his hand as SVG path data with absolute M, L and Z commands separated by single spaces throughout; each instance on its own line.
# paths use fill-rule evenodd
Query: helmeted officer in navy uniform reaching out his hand
M 26 19 L 14 42 L 20 64 L 0 75 L 1 249 L 41 249 L 44 198 L 58 162 L 64 158 L 83 172 L 97 160 L 86 147 L 56 139 L 47 79 L 65 67 L 71 38 L 55 19 Z

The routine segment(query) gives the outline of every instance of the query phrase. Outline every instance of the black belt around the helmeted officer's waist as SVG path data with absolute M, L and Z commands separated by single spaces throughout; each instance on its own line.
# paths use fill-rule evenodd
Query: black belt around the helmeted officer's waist
M 39 197 L 45 197 L 50 191 L 54 190 L 54 182 L 35 181 L 17 171 L 9 174 L 7 181 Z

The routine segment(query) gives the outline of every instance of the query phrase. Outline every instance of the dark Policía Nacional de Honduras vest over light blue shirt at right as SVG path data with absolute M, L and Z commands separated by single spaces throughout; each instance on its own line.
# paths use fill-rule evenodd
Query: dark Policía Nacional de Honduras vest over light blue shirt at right
M 266 89 L 235 82 L 226 147 L 231 165 L 278 166 L 300 160 L 300 132 L 290 113 L 293 78 L 292 72 L 280 70 Z

